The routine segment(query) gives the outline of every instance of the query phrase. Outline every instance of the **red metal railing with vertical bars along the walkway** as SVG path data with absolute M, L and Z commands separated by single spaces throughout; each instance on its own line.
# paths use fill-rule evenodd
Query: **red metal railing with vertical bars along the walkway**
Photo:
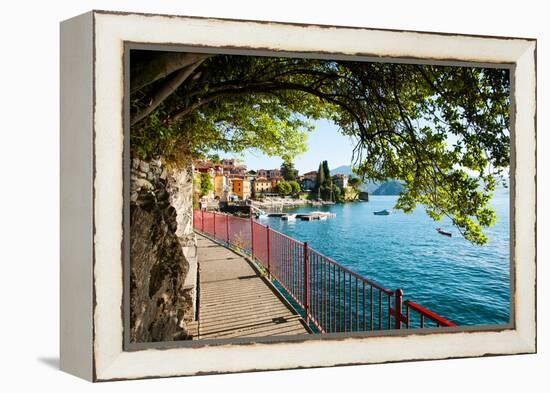
M 237 247 L 267 271 L 320 332 L 456 326 L 395 291 L 253 219 L 195 211 L 193 226 Z M 403 313 L 403 309 L 405 312 Z

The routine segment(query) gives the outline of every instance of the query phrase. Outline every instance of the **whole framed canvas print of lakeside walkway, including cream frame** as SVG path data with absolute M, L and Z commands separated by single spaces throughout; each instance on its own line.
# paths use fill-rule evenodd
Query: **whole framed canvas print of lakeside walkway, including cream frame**
M 536 351 L 536 41 L 61 24 L 61 367 Z

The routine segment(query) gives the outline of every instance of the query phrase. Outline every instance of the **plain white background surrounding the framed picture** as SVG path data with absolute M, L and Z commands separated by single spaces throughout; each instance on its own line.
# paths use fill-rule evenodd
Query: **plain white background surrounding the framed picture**
M 549 86 L 544 71 L 550 64 L 550 12 L 543 4 L 527 0 L 4 2 L 0 11 L 0 390 L 548 391 L 544 287 L 548 241 L 544 239 L 549 239 L 549 213 L 542 198 L 548 190 L 549 167 L 544 122 Z M 91 9 L 537 38 L 539 354 L 96 385 L 58 371 L 58 24 Z

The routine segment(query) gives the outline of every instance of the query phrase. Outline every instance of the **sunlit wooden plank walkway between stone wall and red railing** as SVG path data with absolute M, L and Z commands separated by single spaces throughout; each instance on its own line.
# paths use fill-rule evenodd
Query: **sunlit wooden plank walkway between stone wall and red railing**
M 304 320 L 253 265 L 197 234 L 198 339 L 308 334 Z

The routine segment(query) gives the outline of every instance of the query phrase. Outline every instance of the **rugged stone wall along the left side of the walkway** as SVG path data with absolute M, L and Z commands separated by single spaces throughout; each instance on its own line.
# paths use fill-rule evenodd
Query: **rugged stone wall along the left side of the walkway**
M 192 227 L 192 167 L 167 170 L 134 159 L 130 186 L 130 337 L 190 339 L 197 258 Z

